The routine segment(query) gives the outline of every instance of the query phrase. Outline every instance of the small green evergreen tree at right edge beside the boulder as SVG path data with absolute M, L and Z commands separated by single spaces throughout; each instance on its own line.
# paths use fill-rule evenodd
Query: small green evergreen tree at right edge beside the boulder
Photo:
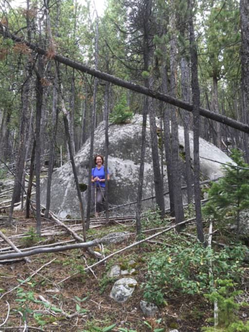
M 209 202 L 203 209 L 205 215 L 216 221 L 237 223 L 237 237 L 240 232 L 240 211 L 249 207 L 249 165 L 244 162 L 242 153 L 233 149 L 232 160 L 237 166 L 224 166 L 224 177 L 213 183 L 209 192 Z

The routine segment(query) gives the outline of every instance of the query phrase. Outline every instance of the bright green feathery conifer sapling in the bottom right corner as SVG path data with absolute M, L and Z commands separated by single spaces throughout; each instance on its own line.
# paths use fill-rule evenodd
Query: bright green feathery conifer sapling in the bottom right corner
M 218 325 L 215 327 L 203 327 L 205 332 L 249 332 L 249 322 L 244 323 L 238 319 L 238 310 L 248 306 L 247 303 L 235 302 L 236 296 L 243 293 L 234 291 L 234 284 L 231 280 L 217 280 L 217 290 L 211 294 L 205 294 L 211 302 L 218 304 Z M 213 319 L 210 319 L 213 320 Z

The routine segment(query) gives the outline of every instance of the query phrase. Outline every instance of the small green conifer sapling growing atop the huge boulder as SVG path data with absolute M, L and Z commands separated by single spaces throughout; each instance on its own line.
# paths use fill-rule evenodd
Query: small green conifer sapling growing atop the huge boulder
M 110 122 L 116 125 L 121 125 L 127 123 L 133 116 L 132 111 L 130 111 L 127 106 L 126 95 L 123 94 L 110 113 Z

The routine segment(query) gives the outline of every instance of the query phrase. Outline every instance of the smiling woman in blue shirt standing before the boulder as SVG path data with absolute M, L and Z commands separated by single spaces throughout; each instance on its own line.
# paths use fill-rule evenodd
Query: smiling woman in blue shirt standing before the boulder
M 104 158 L 97 154 L 94 157 L 94 164 L 96 165 L 91 169 L 91 183 L 92 191 L 91 197 L 93 202 L 96 202 L 95 217 L 99 216 L 99 213 L 104 210 L 105 188 L 106 188 L 106 169 L 104 164 Z M 110 179 L 109 170 L 107 169 L 107 180 Z

